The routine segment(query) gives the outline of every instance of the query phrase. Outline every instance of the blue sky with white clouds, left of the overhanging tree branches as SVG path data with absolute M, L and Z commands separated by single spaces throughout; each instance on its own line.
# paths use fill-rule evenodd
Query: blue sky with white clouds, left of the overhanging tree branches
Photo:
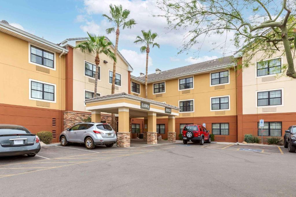
M 152 16 L 160 14 L 155 0 L 2 1 L 0 20 L 6 20 L 12 26 L 53 43 L 60 43 L 66 38 L 86 37 L 86 32 L 105 35 L 115 43 L 115 33 L 107 35 L 105 32 L 113 25 L 102 17 L 102 14 L 109 15 L 110 3 L 130 9 L 131 18 L 137 23 L 132 29 L 120 31 L 118 45 L 119 51 L 133 67 L 134 76 L 144 73 L 146 66 L 146 54 L 140 52 L 141 45 L 133 43 L 137 35 L 141 36 L 141 30 L 151 29 L 159 35 L 155 42 L 160 44 L 160 48 L 150 49 L 148 73 L 155 73 L 156 68 L 164 71 L 223 56 L 221 50 L 211 49 L 213 43 L 218 45 L 225 40 L 225 35 L 215 35 L 211 40 L 205 40 L 201 51 L 192 48 L 188 53 L 178 54 L 184 30 L 168 30 L 164 18 Z M 231 43 L 227 44 L 231 48 Z M 229 52 L 227 55 L 232 54 Z

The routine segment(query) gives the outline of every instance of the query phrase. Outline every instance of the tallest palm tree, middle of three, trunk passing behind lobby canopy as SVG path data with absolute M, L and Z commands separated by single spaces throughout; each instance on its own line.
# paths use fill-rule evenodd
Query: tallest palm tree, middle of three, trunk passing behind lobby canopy
M 112 5 L 110 4 L 110 14 L 111 16 L 107 16 L 106 14 L 103 14 L 103 17 L 106 17 L 109 22 L 111 22 L 113 24 L 113 27 L 110 27 L 108 29 L 106 29 L 107 34 L 113 33 L 115 31 L 115 27 L 116 27 L 116 41 L 115 41 L 115 50 L 114 50 L 114 54 L 115 57 L 117 56 L 117 50 L 118 50 L 118 39 L 119 39 L 119 28 L 122 27 L 122 29 L 126 29 L 129 28 L 131 29 L 131 27 L 133 25 L 136 25 L 136 22 L 134 19 L 128 19 L 128 16 L 130 14 L 130 10 L 128 9 L 122 9 L 122 6 L 116 6 L 116 5 Z M 112 75 L 112 87 L 111 87 L 111 94 L 115 93 L 115 72 L 116 72 L 116 62 L 114 61 L 113 63 L 113 75 Z M 111 115 L 112 117 L 112 127 L 115 128 L 115 114 L 112 113 Z

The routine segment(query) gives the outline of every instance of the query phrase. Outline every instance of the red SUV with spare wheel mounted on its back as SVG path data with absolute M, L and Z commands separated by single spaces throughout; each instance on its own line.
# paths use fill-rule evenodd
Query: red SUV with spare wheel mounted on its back
M 209 132 L 202 125 L 186 125 L 182 131 L 183 144 L 187 144 L 188 141 L 200 143 L 200 145 L 204 142 L 211 143 Z

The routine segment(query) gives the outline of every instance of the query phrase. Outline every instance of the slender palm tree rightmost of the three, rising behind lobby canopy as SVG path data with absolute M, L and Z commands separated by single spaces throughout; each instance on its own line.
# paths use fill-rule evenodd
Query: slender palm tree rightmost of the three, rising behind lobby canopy
M 145 97 L 147 96 L 147 75 L 148 75 L 148 55 L 150 52 L 150 45 L 152 45 L 152 48 L 154 46 L 157 46 L 159 48 L 159 44 L 153 43 L 154 39 L 157 37 L 157 33 L 151 33 L 151 30 L 148 30 L 148 32 L 145 32 L 142 30 L 143 38 L 140 36 L 137 36 L 137 40 L 134 41 L 134 43 L 141 43 L 145 44 L 144 46 L 141 46 L 140 51 L 141 53 L 144 53 L 146 51 L 146 76 L 145 76 Z

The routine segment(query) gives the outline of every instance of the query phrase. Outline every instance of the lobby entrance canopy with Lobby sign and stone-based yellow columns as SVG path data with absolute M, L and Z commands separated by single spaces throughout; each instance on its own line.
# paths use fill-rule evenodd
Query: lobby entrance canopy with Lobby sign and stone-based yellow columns
M 168 116 L 168 142 L 176 141 L 175 116 L 179 115 L 176 106 L 125 92 L 87 99 L 85 104 L 86 110 L 91 111 L 92 122 L 101 122 L 101 112 L 118 114 L 119 147 L 130 146 L 130 118 L 144 118 L 144 140 L 147 140 L 147 144 L 157 144 L 156 117 Z

